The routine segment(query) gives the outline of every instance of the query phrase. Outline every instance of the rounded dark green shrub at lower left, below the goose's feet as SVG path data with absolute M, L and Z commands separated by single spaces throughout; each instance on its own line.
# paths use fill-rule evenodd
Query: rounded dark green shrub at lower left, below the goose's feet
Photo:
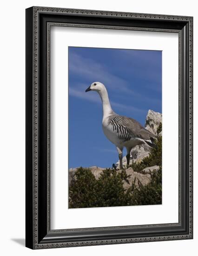
M 89 169 L 79 168 L 75 175 L 69 189 L 69 208 L 123 206 L 129 202 L 130 195 L 123 188 L 125 171 L 105 169 L 98 180 Z

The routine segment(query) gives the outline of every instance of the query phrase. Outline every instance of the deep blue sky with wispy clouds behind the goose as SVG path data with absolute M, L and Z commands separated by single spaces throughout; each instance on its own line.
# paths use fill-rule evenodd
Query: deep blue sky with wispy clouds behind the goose
M 112 109 L 145 126 L 149 109 L 162 112 L 162 52 L 69 47 L 69 168 L 112 167 L 118 153 L 102 130 L 102 82 Z M 125 154 L 125 151 L 124 151 Z

